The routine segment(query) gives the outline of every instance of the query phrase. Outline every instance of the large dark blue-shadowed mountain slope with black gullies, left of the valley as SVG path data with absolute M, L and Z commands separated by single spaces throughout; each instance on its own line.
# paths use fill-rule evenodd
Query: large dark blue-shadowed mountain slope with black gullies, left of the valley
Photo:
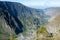
M 16 2 L 0 1 L 0 23 L 8 33 L 12 31 L 13 34 L 30 37 L 41 25 L 48 23 L 48 17 L 42 9 L 29 8 Z

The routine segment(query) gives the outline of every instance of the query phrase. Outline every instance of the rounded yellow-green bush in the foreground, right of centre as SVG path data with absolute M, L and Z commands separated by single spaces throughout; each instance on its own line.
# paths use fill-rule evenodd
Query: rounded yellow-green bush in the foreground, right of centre
M 40 38 L 40 35 L 44 35 L 45 37 L 48 36 L 48 31 L 46 29 L 45 26 L 41 26 L 40 28 L 37 29 L 36 31 L 36 35 L 37 35 L 37 39 L 36 40 L 43 40 L 43 38 Z

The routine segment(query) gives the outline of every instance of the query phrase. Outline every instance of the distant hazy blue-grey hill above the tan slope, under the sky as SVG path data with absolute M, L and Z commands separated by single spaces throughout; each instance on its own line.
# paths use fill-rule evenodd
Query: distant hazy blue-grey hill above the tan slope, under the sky
M 60 7 L 50 7 L 45 9 L 45 13 L 50 16 L 60 15 Z

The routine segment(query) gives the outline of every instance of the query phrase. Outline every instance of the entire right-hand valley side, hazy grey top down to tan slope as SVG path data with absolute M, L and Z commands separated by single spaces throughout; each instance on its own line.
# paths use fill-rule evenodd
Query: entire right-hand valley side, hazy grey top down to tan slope
M 60 40 L 60 7 L 50 7 L 44 10 L 44 13 L 50 15 L 47 31 L 53 34 L 54 40 Z

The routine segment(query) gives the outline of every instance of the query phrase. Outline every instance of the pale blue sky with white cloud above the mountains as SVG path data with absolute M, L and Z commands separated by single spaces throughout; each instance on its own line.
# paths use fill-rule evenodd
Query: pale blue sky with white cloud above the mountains
M 32 8 L 60 7 L 60 0 L 1 0 L 19 2 Z

